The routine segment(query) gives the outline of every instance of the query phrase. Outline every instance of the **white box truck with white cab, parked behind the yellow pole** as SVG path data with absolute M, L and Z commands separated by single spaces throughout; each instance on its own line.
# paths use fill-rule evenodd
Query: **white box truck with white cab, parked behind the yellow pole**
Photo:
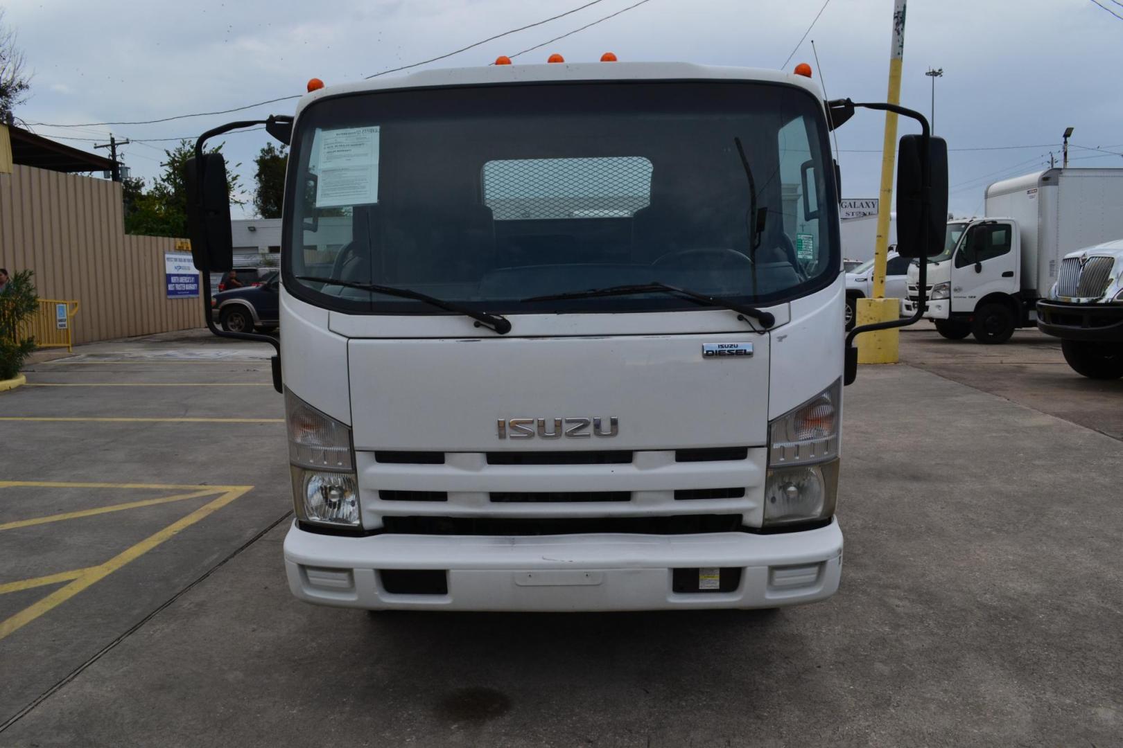
M 985 218 L 948 227 L 947 251 L 928 266 L 924 316 L 944 338 L 1005 343 L 1037 324 L 1069 252 L 1123 237 L 1123 169 L 1051 168 L 986 188 Z M 919 267 L 910 270 L 915 311 Z

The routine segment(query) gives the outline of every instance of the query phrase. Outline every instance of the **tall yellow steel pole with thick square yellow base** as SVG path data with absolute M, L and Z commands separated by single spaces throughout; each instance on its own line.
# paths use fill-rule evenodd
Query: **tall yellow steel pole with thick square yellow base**
M 885 99 L 901 103 L 901 64 L 905 50 L 905 0 L 894 0 L 893 43 L 889 47 L 889 90 Z M 889 248 L 889 212 L 893 210 L 893 167 L 897 153 L 897 116 L 885 112 L 882 142 L 882 191 L 877 204 L 877 240 L 874 244 L 874 297 L 858 299 L 859 325 L 887 322 L 900 316 L 900 302 L 885 298 L 885 262 Z M 858 363 L 896 363 L 900 331 L 877 330 L 857 336 Z

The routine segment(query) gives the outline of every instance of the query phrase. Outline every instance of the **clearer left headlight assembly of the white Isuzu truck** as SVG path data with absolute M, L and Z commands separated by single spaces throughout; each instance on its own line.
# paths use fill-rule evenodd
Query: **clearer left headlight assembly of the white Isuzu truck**
M 285 390 L 293 506 L 302 521 L 358 527 L 350 428 Z

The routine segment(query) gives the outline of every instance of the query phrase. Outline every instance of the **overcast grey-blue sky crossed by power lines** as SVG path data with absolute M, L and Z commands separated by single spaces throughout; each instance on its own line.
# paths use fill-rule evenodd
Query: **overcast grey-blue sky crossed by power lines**
M 35 73 L 33 96 L 16 116 L 82 123 L 229 109 L 302 93 L 312 76 L 328 84 L 355 81 L 587 1 L 0 0 L 0 7 Z M 1101 1 L 1123 16 L 1123 6 Z M 486 64 L 634 2 L 601 0 L 432 65 Z M 550 52 L 569 62 L 595 61 L 611 49 L 621 61 L 777 68 L 822 6 L 822 0 L 649 0 L 517 63 L 542 62 Z M 884 101 L 892 11 L 892 0 L 830 0 L 786 67 L 809 62 L 823 82 L 813 39 L 831 98 Z M 943 68 L 935 84 L 937 133 L 951 149 L 993 148 L 951 154 L 950 206 L 957 215 L 979 213 L 987 184 L 1048 165 L 1050 150 L 1059 161 L 1068 126 L 1075 128 L 1072 166 L 1123 167 L 1123 19 L 1092 0 L 911 0 L 902 103 L 929 111 L 930 66 Z M 291 113 L 293 105 L 159 124 L 33 129 L 74 138 L 110 130 L 136 139 L 193 138 L 231 119 Z M 839 130 L 843 196 L 877 195 L 883 124 L 880 116 L 859 113 Z M 902 131 L 910 124 L 903 121 Z M 228 159 L 241 161 L 247 187 L 253 156 L 266 139 L 264 132 L 228 137 Z M 152 177 L 170 145 L 129 145 L 124 160 L 134 175 Z

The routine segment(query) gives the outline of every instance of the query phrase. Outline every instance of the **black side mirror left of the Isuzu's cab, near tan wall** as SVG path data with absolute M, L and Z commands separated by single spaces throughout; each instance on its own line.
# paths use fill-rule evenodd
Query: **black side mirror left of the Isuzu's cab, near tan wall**
M 226 159 L 222 154 L 189 158 L 184 170 L 192 259 L 202 273 L 225 273 L 234 267 Z

